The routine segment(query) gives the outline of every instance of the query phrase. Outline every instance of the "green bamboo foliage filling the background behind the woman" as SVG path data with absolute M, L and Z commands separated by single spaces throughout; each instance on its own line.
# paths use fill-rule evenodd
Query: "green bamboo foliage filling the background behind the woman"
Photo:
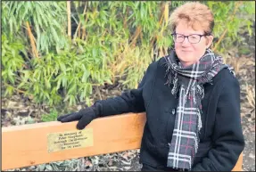
M 147 66 L 168 54 L 169 15 L 184 3 L 2 2 L 1 94 L 46 104 L 55 119 L 63 107 L 91 105 L 101 86 L 135 88 Z M 202 3 L 215 17 L 212 49 L 224 59 L 229 49 L 250 53 L 239 33 L 252 35 L 255 2 Z

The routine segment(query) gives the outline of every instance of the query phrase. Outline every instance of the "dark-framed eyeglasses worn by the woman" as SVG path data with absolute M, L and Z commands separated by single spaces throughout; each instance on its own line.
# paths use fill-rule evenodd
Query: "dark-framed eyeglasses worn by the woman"
M 196 43 L 199 43 L 200 40 L 201 40 L 201 37 L 204 37 L 204 36 L 210 36 L 211 34 L 204 34 L 204 35 L 200 35 L 200 34 L 192 34 L 192 35 L 189 35 L 189 36 L 185 36 L 185 35 L 182 35 L 182 34 L 178 34 L 178 33 L 173 33 L 171 34 L 174 42 L 176 43 L 183 43 L 183 41 L 185 40 L 185 38 L 188 39 L 188 42 L 190 42 L 191 44 L 196 44 Z

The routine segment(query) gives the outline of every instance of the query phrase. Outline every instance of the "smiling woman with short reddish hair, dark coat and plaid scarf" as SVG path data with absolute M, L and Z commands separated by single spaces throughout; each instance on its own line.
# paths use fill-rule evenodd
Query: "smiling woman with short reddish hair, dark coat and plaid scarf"
M 244 150 L 240 87 L 210 49 L 214 20 L 204 4 L 186 3 L 170 16 L 174 50 L 149 65 L 137 89 L 58 118 L 93 119 L 146 111 L 142 171 L 231 171 Z

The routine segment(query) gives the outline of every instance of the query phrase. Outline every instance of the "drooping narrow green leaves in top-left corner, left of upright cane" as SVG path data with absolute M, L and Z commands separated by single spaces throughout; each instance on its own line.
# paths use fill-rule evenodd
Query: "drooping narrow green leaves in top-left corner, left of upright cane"
M 3 32 L 10 39 L 25 38 L 26 21 L 33 25 L 37 50 L 42 53 L 59 51 L 67 45 L 65 39 L 66 11 L 64 2 L 4 2 L 2 6 Z M 22 31 L 21 31 L 22 30 Z M 51 49 L 52 48 L 52 49 Z

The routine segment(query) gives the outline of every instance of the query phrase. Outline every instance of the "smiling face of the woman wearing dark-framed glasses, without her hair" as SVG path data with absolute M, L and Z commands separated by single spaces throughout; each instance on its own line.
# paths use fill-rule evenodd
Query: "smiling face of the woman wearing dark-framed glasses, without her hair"
M 175 42 L 175 51 L 178 55 L 179 61 L 181 61 L 184 67 L 199 61 L 206 49 L 210 47 L 213 40 L 212 36 L 203 36 L 200 38 L 200 36 L 194 35 L 190 36 L 189 40 L 188 37 L 185 37 L 184 41 L 181 42 L 184 36 L 193 34 L 204 35 L 204 31 L 201 26 L 197 26 L 195 30 L 192 27 L 187 26 L 187 23 L 184 20 L 178 23 L 178 26 L 176 27 L 176 34 L 177 39 Z M 200 41 L 198 42 L 199 39 Z

